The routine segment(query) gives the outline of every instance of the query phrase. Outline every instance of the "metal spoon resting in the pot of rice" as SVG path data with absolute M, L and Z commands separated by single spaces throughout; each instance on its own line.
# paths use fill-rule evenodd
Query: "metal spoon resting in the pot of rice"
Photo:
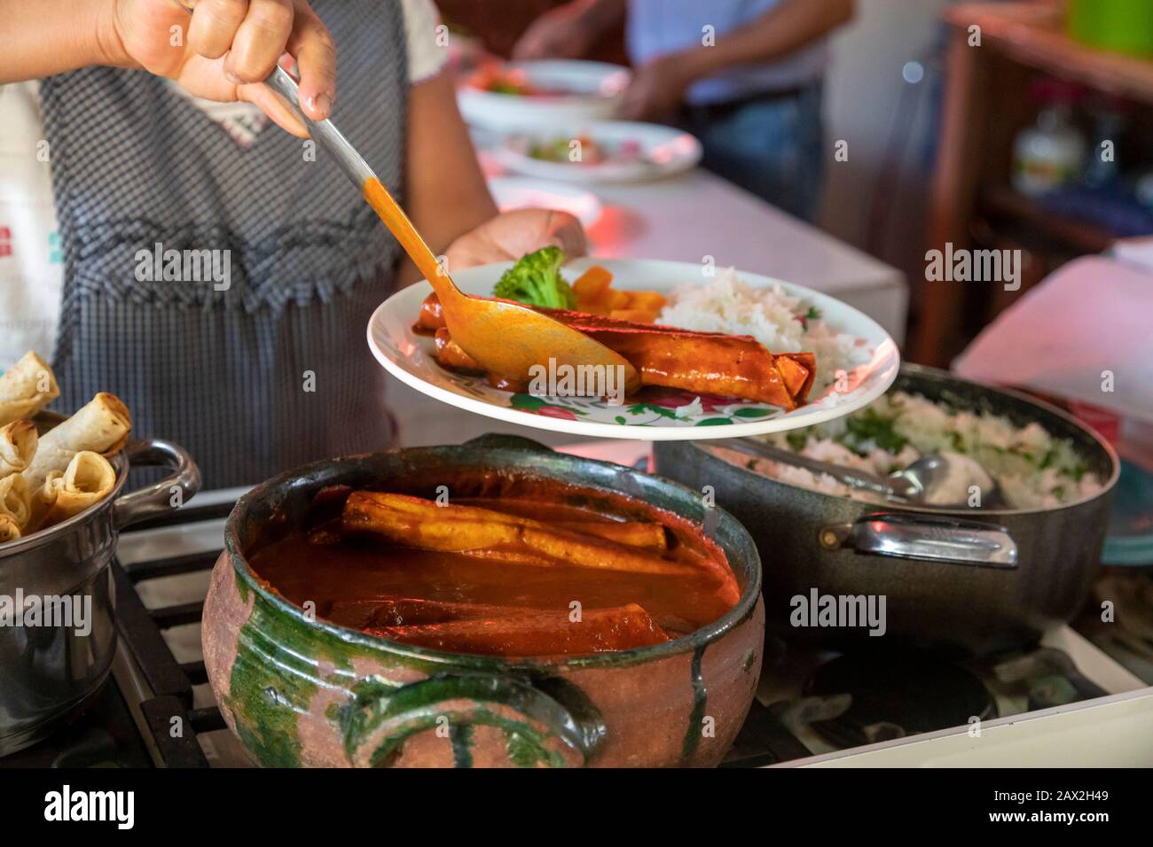
M 935 502 L 937 492 L 948 477 L 950 468 L 948 456 L 940 453 L 927 453 L 903 470 L 889 476 L 877 476 L 864 470 L 823 462 L 820 459 L 811 459 L 800 453 L 782 449 L 752 438 L 729 439 L 724 441 L 724 446 L 738 453 L 769 459 L 794 468 L 804 468 L 814 474 L 828 474 L 839 483 L 860 491 L 880 494 L 887 500 L 904 500 L 914 506 L 935 506 L 937 508 L 967 507 L 967 502 L 964 501 L 956 504 Z M 996 481 L 993 482 L 992 487 L 981 491 L 982 508 L 1004 508 L 1005 506 L 1008 502 Z

